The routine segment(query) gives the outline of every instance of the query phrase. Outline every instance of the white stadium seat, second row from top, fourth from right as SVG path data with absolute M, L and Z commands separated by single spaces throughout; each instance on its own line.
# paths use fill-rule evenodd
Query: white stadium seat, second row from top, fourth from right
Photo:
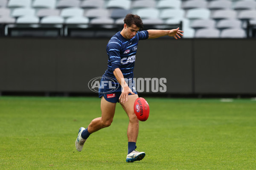
M 185 11 L 183 9 L 163 9 L 160 12 L 161 19 L 170 18 L 183 18 L 185 16 Z

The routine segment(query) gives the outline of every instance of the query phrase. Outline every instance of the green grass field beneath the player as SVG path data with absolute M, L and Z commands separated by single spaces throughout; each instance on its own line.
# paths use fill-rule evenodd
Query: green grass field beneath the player
M 256 101 L 146 98 L 142 161 L 126 163 L 128 117 L 120 105 L 110 127 L 77 152 L 79 127 L 100 116 L 93 97 L 0 97 L 1 170 L 256 170 Z

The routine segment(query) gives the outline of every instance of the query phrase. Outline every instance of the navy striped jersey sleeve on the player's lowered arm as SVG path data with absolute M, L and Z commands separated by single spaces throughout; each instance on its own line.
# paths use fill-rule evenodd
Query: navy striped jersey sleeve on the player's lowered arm
M 118 42 L 109 42 L 107 45 L 107 54 L 111 62 L 112 71 L 121 67 L 120 58 L 121 44 Z

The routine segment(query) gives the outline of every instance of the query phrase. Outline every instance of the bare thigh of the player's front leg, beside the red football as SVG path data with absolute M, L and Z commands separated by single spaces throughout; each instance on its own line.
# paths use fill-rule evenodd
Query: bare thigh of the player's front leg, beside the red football
M 128 101 L 125 103 L 122 103 L 121 101 L 120 104 L 122 105 L 122 108 L 125 110 L 129 118 L 133 118 L 135 116 L 134 114 L 134 102 L 139 96 L 137 94 L 132 94 L 128 96 Z

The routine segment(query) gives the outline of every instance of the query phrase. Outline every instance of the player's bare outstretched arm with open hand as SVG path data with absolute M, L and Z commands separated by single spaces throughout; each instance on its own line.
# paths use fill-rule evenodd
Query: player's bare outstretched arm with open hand
M 157 29 L 149 29 L 148 30 L 148 38 L 153 39 L 153 38 L 158 38 L 158 37 L 163 37 L 163 36 L 170 36 L 174 37 L 176 40 L 180 38 L 180 36 L 183 36 L 180 28 L 176 29 L 171 29 L 171 30 L 157 30 Z

